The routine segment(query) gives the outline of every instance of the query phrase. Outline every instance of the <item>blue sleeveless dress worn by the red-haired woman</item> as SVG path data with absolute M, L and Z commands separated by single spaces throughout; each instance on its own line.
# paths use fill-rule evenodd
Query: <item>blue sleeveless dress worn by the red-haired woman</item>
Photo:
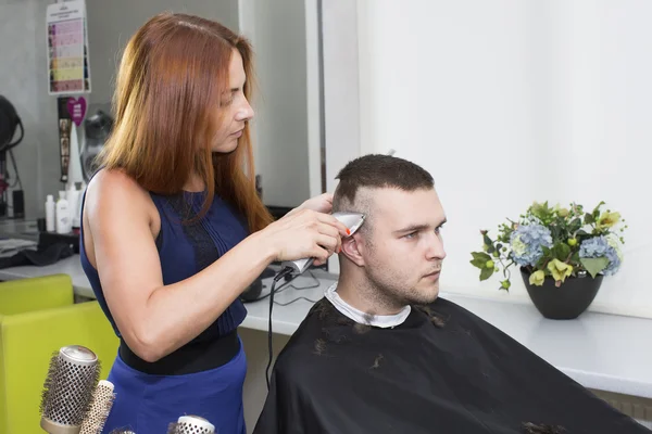
M 164 284 L 175 283 L 197 273 L 249 234 L 242 217 L 217 196 L 199 222 L 188 225 L 183 221 L 189 215 L 188 208 L 199 212 L 203 193 L 150 195 L 161 216 L 156 246 Z M 96 297 L 120 337 L 120 331 L 104 299 L 98 271 L 89 263 L 84 248 L 83 227 L 79 254 Z M 116 398 L 103 433 L 115 429 L 129 429 L 137 434 L 166 433 L 168 424 L 176 422 L 180 416 L 195 414 L 214 424 L 216 433 L 244 434 L 242 386 L 247 361 L 242 343 L 237 336 L 237 328 L 246 315 L 244 306 L 236 299 L 213 324 L 186 345 L 201 348 L 202 345 L 210 345 L 215 340 L 235 333 L 239 350 L 217 368 L 187 374 L 152 374 L 125 363 L 118 352 L 108 378 L 115 386 Z

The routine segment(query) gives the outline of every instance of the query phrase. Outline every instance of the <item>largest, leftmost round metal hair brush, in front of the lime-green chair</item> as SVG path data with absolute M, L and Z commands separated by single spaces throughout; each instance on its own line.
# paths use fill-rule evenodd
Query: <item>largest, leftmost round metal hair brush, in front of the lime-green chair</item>
M 98 356 L 80 345 L 64 346 L 52 355 L 40 405 L 40 426 L 47 433 L 79 433 L 100 368 Z

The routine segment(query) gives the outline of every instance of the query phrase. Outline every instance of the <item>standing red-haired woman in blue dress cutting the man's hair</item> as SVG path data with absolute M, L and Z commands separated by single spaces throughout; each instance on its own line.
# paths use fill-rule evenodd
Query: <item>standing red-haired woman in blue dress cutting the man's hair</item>
M 271 222 L 252 182 L 251 58 L 241 37 L 180 14 L 125 49 L 80 251 L 121 340 L 105 433 L 161 434 L 183 414 L 244 433 L 238 296 L 274 260 L 323 264 L 346 234 L 329 195 Z

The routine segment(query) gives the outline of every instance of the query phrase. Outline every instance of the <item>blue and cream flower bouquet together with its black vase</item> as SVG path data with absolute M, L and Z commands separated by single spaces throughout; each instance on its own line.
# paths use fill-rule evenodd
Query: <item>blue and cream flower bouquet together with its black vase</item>
M 510 290 L 510 267 L 516 265 L 530 298 L 548 318 L 575 318 L 593 301 L 602 278 L 618 271 L 620 245 L 627 228 L 620 214 L 591 212 L 579 204 L 568 208 L 535 202 L 518 221 L 507 219 L 492 239 L 481 230 L 482 252 L 472 252 L 471 264 L 480 281 L 502 269 L 500 289 Z

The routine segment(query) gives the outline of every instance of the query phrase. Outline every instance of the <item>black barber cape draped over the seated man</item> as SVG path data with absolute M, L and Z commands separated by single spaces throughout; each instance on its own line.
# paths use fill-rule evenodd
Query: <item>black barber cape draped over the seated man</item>
M 281 350 L 254 430 L 294 433 L 650 431 L 449 301 L 379 329 L 323 298 Z

